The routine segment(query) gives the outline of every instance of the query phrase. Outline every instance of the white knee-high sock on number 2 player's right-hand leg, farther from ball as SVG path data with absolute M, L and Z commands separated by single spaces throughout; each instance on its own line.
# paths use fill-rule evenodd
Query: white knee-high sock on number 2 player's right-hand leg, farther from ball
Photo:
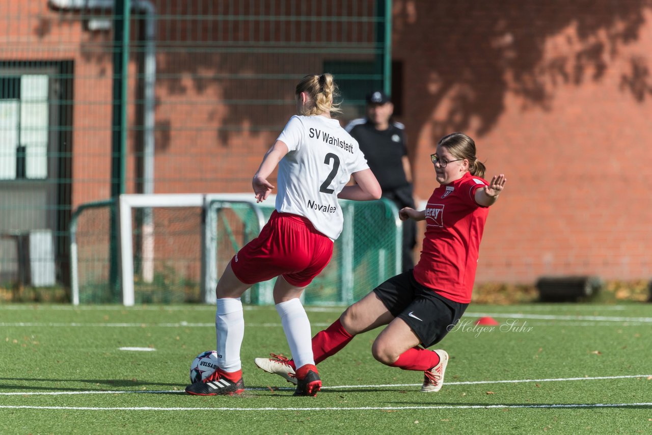
M 306 364 L 314 365 L 310 321 L 301 301 L 290 299 L 276 304 L 276 311 L 281 316 L 283 331 L 288 338 L 289 350 L 296 367 L 299 368 Z

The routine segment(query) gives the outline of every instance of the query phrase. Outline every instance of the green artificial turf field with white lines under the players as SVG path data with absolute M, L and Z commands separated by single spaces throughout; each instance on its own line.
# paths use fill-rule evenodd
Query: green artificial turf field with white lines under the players
M 308 308 L 313 333 L 341 310 Z M 499 325 L 474 328 L 481 316 Z M 207 306 L 0 305 L 0 433 L 652 432 L 651 304 L 471 305 L 437 345 L 451 355 L 439 393 L 374 361 L 372 331 L 319 365 L 314 398 L 254 366 L 288 352 L 274 307 L 245 308 L 242 396 L 183 393 L 192 359 L 215 348 L 214 318 Z

